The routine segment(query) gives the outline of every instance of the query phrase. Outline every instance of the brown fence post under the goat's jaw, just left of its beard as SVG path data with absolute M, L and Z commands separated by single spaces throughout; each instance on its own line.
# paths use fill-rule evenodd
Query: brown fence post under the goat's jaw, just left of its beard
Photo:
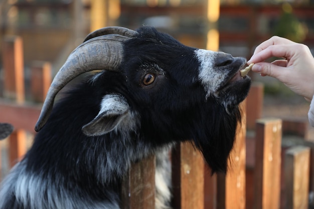
M 174 208 L 204 208 L 204 167 L 202 154 L 191 142 L 180 143 L 172 151 Z

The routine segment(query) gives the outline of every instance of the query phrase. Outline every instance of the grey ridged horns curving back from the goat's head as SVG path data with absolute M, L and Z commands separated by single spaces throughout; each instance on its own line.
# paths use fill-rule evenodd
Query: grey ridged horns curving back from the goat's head
M 57 93 L 71 80 L 93 70 L 117 71 L 123 59 L 123 43 L 136 34 L 135 31 L 120 27 L 103 28 L 89 34 L 85 41 L 69 55 L 53 79 L 35 131 L 40 131 L 46 124 Z

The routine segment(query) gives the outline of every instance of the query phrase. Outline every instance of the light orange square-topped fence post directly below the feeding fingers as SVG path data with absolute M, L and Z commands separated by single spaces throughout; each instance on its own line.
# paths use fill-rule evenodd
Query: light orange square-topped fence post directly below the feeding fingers
M 281 127 L 280 119 L 259 119 L 256 122 L 256 209 L 280 207 Z

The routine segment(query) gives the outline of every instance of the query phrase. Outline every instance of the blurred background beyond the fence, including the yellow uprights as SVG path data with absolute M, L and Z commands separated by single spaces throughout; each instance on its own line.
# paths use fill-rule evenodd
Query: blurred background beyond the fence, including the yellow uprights
M 51 64 L 52 76 L 84 37 L 105 26 L 150 25 L 185 45 L 247 59 L 273 35 L 304 43 L 314 52 L 314 0 L 1 0 L 0 48 L 12 35 L 23 40 L 26 99 L 34 61 Z M 0 51 L 0 81 L 4 79 Z M 271 60 L 270 60 L 271 61 Z M 263 116 L 306 117 L 308 102 L 269 77 Z M 2 82 L 0 82 L 2 83 Z M 3 84 L 0 84 L 0 90 Z M 3 96 L 3 91 L 0 91 Z

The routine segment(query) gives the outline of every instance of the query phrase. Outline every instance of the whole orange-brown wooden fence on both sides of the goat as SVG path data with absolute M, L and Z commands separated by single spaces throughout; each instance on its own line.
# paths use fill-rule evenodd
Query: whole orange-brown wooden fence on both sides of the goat
M 6 160 L 12 167 L 27 150 L 26 133 L 34 134 L 40 104 L 51 82 L 51 67 L 45 62 L 31 67 L 30 98 L 39 103 L 26 102 L 22 40 L 12 37 L 3 46 L 0 122 L 15 126 L 7 139 Z M 241 104 L 242 126 L 237 130 L 227 174 L 211 176 L 202 155 L 190 143 L 172 150 L 173 208 L 308 207 L 308 194 L 314 191 L 314 143 L 306 140 L 307 121 L 260 119 L 262 104 L 263 86 L 254 83 Z M 132 164 L 122 182 L 121 208 L 154 207 L 154 160 L 150 156 Z

